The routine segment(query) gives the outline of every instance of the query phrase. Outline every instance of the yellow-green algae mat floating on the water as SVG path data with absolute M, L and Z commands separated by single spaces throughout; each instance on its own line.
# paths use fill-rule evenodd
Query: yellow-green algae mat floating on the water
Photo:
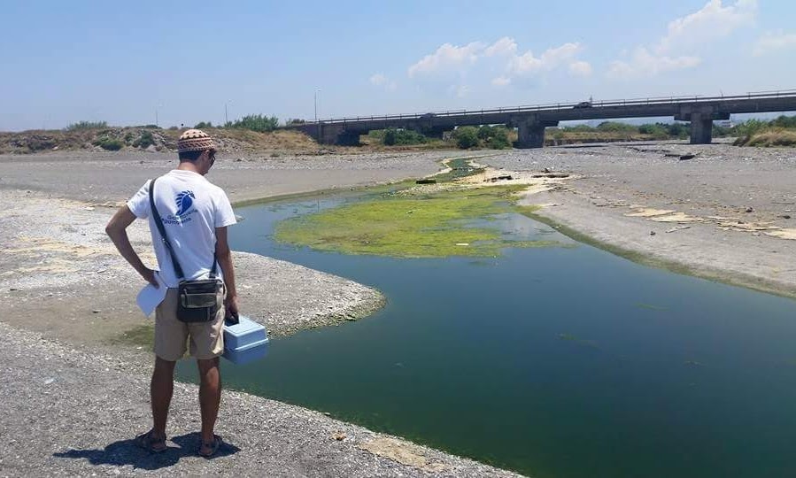
M 395 258 L 498 256 L 506 247 L 546 247 L 551 241 L 512 241 L 489 223 L 514 205 L 524 186 L 419 185 L 361 202 L 284 220 L 274 238 L 318 251 Z

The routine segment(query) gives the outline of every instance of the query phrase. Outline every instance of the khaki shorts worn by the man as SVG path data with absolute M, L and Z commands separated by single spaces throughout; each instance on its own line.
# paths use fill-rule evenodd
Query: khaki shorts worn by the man
M 166 298 L 155 310 L 155 355 L 174 362 L 185 355 L 190 339 L 190 355 L 199 359 L 224 353 L 224 292 L 219 294 L 215 320 L 188 324 L 177 319 L 178 289 L 168 289 Z

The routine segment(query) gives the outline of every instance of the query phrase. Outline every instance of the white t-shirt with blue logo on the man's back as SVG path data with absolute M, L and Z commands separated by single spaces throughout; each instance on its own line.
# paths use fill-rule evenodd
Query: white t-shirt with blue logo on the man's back
M 149 218 L 152 244 L 158 257 L 160 277 L 166 286 L 180 282 L 171 256 L 160 238 L 150 208 L 150 182 L 146 181 L 128 201 L 130 211 L 139 219 Z M 206 279 L 213 267 L 215 228 L 235 224 L 235 213 L 223 189 L 191 171 L 174 169 L 155 181 L 155 207 L 163 221 L 166 237 L 182 266 L 184 279 Z M 220 266 L 216 267 L 221 277 Z

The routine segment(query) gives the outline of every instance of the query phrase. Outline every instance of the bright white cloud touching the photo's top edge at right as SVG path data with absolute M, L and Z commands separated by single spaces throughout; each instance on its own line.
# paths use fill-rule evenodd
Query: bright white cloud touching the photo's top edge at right
M 757 0 L 737 0 L 727 6 L 722 0 L 710 0 L 698 12 L 671 21 L 656 52 L 664 54 L 702 46 L 730 35 L 738 27 L 752 23 L 756 17 Z

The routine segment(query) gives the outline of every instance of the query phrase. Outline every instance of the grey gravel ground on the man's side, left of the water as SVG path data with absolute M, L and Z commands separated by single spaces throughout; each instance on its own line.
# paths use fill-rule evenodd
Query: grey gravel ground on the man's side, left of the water
M 210 179 L 242 201 L 434 173 L 444 156 L 252 158 L 222 161 Z M 143 283 L 104 236 L 104 224 L 116 204 L 173 166 L 160 155 L 0 158 L 0 476 L 514 475 L 228 390 L 219 433 L 230 444 L 206 461 L 195 456 L 197 387 L 182 383 L 174 390 L 171 450 L 136 449 L 131 438 L 151 422 L 151 354 L 129 335 L 151 321 L 135 307 Z M 136 221 L 129 235 L 153 265 L 145 223 Z M 331 274 L 242 252 L 235 261 L 242 309 L 272 336 L 356 320 L 383 304 L 378 291 Z

